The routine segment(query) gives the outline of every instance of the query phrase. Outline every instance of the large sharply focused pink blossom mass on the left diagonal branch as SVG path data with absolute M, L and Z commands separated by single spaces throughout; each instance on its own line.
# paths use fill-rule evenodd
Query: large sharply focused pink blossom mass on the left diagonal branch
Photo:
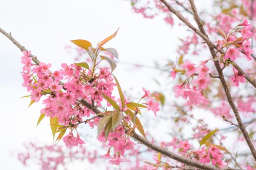
M 39 102 L 42 96 L 46 97 L 43 100 L 45 108 L 40 111 L 41 114 L 45 114 L 46 117 L 50 118 L 58 117 L 60 125 L 70 128 L 69 134 L 63 137 L 67 147 L 85 144 L 80 139 L 78 132 L 76 137 L 73 135 L 73 130 L 77 131 L 78 124 L 83 121 L 84 117 L 95 115 L 92 110 L 80 103 L 81 100 L 86 100 L 92 105 L 96 104 L 98 107 L 102 107 L 104 98 L 101 93 L 103 93 L 114 102 L 117 102 L 120 107 L 122 106 L 121 100 L 115 100 L 115 96 L 112 96 L 116 83 L 113 82 L 114 78 L 108 68 L 99 68 L 98 73 L 92 74 L 90 69 L 83 69 L 75 64 L 68 66 L 63 63 L 61 69 L 52 73 L 49 70 L 51 64 L 31 64 L 32 60 L 29 55 L 30 51 L 23 51 L 23 56 L 21 57 L 21 63 L 24 64 L 22 71 L 23 86 L 27 88 L 28 92 L 31 92 L 30 97 L 34 102 Z M 60 84 L 60 81 L 64 82 L 63 85 Z M 159 111 L 158 102 L 154 101 L 148 90 L 143 88 L 143 91 L 145 95 L 142 98 L 147 97 L 148 99 L 145 103 L 147 109 L 152 110 L 156 115 Z M 112 106 L 107 100 L 105 102 L 107 106 Z M 122 108 L 122 111 L 126 110 L 127 106 Z M 96 117 L 86 122 L 94 128 L 94 126 L 98 125 L 99 119 L 99 117 Z M 125 120 L 129 123 L 131 119 L 126 116 Z M 124 162 L 125 160 L 120 156 L 124 155 L 125 150 L 134 149 L 134 143 L 125 134 L 121 126 L 118 126 L 114 132 L 110 132 L 106 140 L 102 131 L 98 136 L 98 140 L 102 142 L 108 141 L 110 148 L 108 154 L 103 157 L 108 158 L 111 164 L 119 165 Z M 114 150 L 113 157 L 109 155 L 111 148 Z M 107 155 L 109 157 L 106 157 Z

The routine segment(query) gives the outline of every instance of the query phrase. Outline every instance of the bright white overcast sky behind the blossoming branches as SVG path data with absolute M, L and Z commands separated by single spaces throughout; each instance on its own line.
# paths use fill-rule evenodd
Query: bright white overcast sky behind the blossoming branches
M 51 63 L 52 70 L 59 69 L 61 63 L 74 62 L 64 48 L 73 46 L 69 40 L 86 39 L 96 45 L 120 28 L 107 46 L 118 50 L 120 62 L 154 66 L 155 61 L 164 65 L 167 59 L 177 57 L 177 37 L 182 36 L 182 28 L 172 28 L 162 18 L 144 19 L 135 14 L 128 0 L 0 0 L 0 16 L 0 28 L 12 32 L 39 61 Z M 22 151 L 24 142 L 52 143 L 46 120 L 36 127 L 41 103 L 26 109 L 30 100 L 20 99 L 28 95 L 21 85 L 21 56 L 0 34 L 1 170 L 37 170 L 22 166 L 15 154 Z M 139 94 L 142 87 L 163 88 L 153 81 L 164 81 L 156 70 L 119 63 L 114 74 L 124 91 L 133 89 Z

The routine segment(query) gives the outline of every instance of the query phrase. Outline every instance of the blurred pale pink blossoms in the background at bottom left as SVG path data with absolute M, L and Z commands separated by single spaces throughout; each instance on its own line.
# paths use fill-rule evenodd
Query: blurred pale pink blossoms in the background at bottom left
M 98 158 L 97 151 L 87 151 L 85 147 L 67 148 L 57 144 L 40 145 L 38 142 L 24 144 L 26 151 L 18 153 L 18 159 L 23 165 L 37 162 L 41 170 L 67 169 L 66 165 L 74 160 L 85 158 L 94 163 Z

